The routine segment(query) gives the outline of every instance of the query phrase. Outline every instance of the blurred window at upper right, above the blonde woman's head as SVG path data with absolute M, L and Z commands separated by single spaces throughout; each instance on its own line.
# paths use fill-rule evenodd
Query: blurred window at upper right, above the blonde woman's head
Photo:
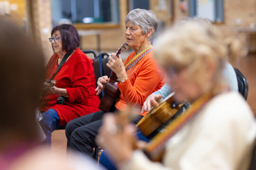
M 223 22 L 223 0 L 190 0 L 190 17 L 205 17 Z

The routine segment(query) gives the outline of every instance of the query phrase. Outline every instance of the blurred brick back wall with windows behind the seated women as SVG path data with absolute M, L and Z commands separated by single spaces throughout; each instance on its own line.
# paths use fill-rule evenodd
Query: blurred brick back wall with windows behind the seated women
M 51 30 L 61 23 L 72 23 L 80 31 L 82 49 L 116 51 L 125 42 L 125 17 L 133 8 L 155 12 L 155 36 L 209 8 L 206 15 L 215 12 L 210 16 L 214 25 L 226 35 L 241 36 L 248 50 L 256 52 L 256 0 L 0 0 L 0 15 L 15 17 L 42 46 L 46 60 L 53 54 Z

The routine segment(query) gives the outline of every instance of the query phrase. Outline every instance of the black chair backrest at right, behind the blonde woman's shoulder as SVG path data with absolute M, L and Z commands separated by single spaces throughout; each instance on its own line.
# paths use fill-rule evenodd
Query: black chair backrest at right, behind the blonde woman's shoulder
M 238 91 L 244 96 L 245 100 L 247 100 L 248 95 L 248 82 L 246 77 L 239 71 L 238 68 L 234 68 L 237 79 L 238 79 Z

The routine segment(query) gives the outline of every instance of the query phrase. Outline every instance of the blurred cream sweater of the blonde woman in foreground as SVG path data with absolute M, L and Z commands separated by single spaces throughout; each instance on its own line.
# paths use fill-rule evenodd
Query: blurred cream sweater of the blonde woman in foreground
M 223 93 L 208 102 L 166 143 L 163 163 L 139 150 L 123 170 L 247 170 L 256 139 L 256 119 L 244 98 Z

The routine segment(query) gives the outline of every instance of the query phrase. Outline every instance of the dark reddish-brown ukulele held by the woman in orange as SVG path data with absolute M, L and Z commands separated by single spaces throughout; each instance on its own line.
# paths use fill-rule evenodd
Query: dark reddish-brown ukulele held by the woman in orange
M 119 57 L 120 53 L 126 49 L 128 43 L 125 42 L 117 51 L 116 56 Z M 105 112 L 110 111 L 110 108 L 114 102 L 117 102 L 119 99 L 119 88 L 117 86 L 119 79 L 115 72 L 111 70 L 110 80 L 104 88 L 104 95 L 101 99 L 99 109 Z

